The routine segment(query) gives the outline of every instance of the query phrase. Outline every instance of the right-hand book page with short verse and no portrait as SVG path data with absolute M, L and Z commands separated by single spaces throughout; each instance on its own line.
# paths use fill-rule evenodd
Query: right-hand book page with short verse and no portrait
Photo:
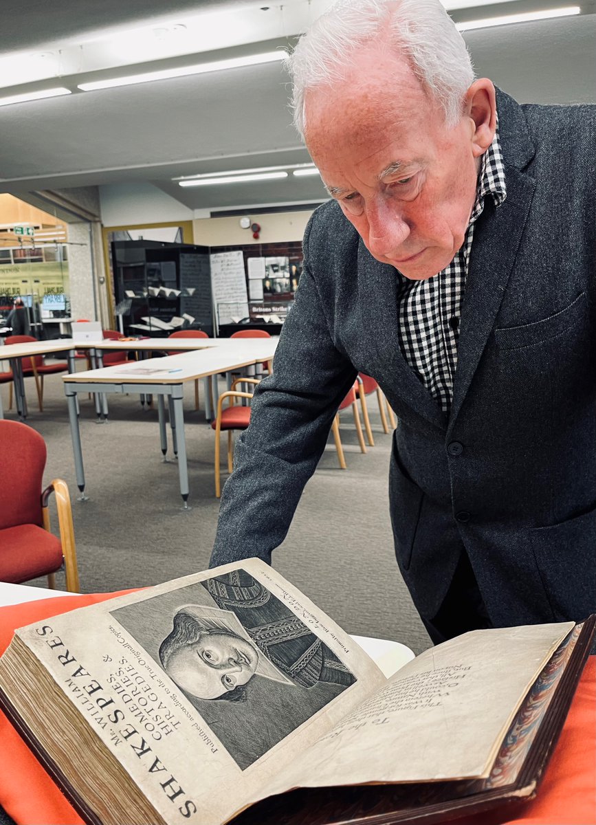
M 480 778 L 573 622 L 476 630 L 429 648 L 277 775 L 292 787 Z

